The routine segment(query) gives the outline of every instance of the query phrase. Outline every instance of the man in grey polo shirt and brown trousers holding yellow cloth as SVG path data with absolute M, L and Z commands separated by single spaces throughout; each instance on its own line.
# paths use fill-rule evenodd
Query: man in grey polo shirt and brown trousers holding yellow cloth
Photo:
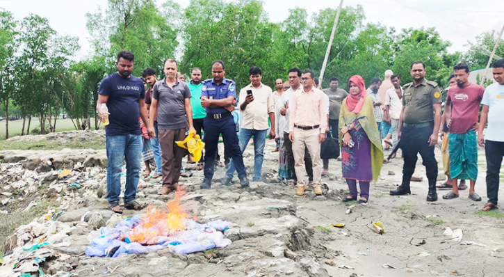
M 158 115 L 159 144 L 163 158 L 163 187 L 160 195 L 168 194 L 179 185 L 182 158 L 186 150 L 179 148 L 175 141 L 184 141 L 187 121 L 190 131 L 193 128 L 193 109 L 190 106 L 190 90 L 186 83 L 177 80 L 177 61 L 167 59 L 164 65 L 165 79 L 152 88 L 150 118 Z M 187 121 L 186 121 L 187 116 Z M 154 130 L 154 122 L 149 122 Z

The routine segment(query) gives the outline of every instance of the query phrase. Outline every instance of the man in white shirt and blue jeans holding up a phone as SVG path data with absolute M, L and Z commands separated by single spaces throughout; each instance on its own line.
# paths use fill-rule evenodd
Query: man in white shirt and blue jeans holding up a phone
M 271 126 L 275 126 L 275 99 L 271 88 L 261 83 L 263 78 L 261 68 L 252 66 L 249 70 L 249 78 L 250 85 L 242 88 L 238 95 L 238 106 L 243 112 L 239 145 L 243 153 L 248 141 L 254 136 L 254 178 L 252 180 L 257 182 L 261 180 L 268 116 Z M 270 139 L 275 139 L 275 128 L 271 128 Z M 229 185 L 235 170 L 234 161 L 231 159 L 226 176 L 222 178 L 223 185 Z

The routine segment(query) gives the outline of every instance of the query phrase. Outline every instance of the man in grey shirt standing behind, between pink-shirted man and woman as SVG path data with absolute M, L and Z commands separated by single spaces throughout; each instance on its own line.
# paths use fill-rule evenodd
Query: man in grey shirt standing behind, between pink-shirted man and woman
M 336 77 L 330 79 L 329 88 L 324 88 L 322 91 L 329 97 L 329 126 L 332 129 L 332 136 L 334 138 L 338 137 L 339 129 L 339 110 L 341 109 L 341 103 L 343 99 L 348 96 L 346 90 L 338 88 L 339 80 Z M 336 140 L 339 148 L 339 142 Z M 329 175 L 329 159 L 322 159 L 324 162 L 324 170 L 322 171 L 323 176 Z

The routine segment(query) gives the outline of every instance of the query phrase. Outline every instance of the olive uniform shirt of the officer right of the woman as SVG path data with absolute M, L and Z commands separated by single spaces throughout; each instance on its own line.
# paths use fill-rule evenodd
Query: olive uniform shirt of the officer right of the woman
M 441 103 L 441 90 L 437 83 L 423 79 L 418 86 L 408 83 L 403 86 L 403 89 L 404 122 L 420 124 L 434 121 L 432 105 Z

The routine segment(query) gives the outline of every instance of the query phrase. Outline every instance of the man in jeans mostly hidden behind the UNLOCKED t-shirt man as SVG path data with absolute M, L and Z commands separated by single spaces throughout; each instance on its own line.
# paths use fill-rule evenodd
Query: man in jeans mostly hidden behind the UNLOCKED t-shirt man
M 156 77 L 156 72 L 152 68 L 146 68 L 142 72 L 142 77 L 145 78 L 147 84 L 149 84 L 149 89 L 145 92 L 145 107 L 147 108 L 147 114 L 150 111 L 150 105 L 152 104 L 152 87 L 158 81 Z M 149 120 L 154 120 L 154 131 L 156 136 L 151 140 L 152 152 L 154 152 L 154 162 L 156 163 L 156 172 L 152 175 L 153 178 L 158 178 L 162 176 L 161 166 L 163 161 L 161 160 L 161 146 L 159 145 L 158 139 L 158 115 L 154 115 L 154 118 L 149 118 Z

